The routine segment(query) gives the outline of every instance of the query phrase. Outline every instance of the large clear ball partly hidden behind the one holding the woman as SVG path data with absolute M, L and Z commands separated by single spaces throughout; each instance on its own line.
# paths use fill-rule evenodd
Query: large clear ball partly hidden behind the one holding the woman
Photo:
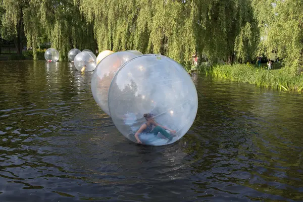
M 104 58 L 94 70 L 91 78 L 91 92 L 98 106 L 109 116 L 111 115 L 108 92 L 112 79 L 124 63 L 140 55 L 131 52 L 116 52 Z

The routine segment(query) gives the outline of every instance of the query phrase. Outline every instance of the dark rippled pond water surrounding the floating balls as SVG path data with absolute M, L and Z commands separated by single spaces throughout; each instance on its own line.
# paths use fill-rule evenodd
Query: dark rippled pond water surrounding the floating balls
M 193 75 L 167 146 L 127 140 L 70 63 L 1 62 L 0 201 L 303 201 L 303 96 Z

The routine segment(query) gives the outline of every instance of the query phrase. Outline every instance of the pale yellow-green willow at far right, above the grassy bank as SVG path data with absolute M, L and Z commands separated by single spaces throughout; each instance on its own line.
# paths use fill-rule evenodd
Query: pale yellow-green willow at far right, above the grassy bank
M 268 58 L 274 53 L 283 59 L 291 74 L 303 66 L 303 2 L 296 0 L 254 0 L 261 38 L 259 53 Z

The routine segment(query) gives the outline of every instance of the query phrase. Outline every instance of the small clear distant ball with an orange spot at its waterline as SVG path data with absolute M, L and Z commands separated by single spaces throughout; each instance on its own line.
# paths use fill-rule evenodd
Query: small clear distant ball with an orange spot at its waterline
M 97 57 L 91 52 L 81 52 L 74 59 L 74 65 L 78 71 L 90 72 L 96 68 Z

